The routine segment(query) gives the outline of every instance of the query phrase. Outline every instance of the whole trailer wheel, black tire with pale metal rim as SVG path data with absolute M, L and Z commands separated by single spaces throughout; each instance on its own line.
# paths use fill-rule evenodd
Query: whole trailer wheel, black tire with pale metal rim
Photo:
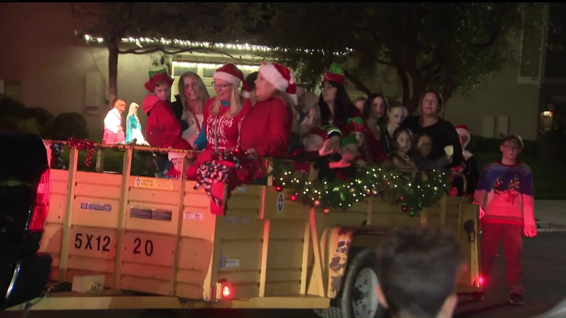
M 378 283 L 374 251 L 364 249 L 348 262 L 344 283 L 331 307 L 323 311 L 324 318 L 381 318 L 385 308 L 375 294 Z

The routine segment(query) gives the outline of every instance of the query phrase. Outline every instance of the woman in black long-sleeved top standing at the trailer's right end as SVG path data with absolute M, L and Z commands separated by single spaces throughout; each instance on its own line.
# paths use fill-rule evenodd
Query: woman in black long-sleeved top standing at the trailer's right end
M 447 167 L 455 167 L 462 162 L 462 147 L 452 123 L 439 117 L 443 107 L 442 95 L 434 89 L 428 89 L 419 100 L 422 115 L 406 118 L 402 126 L 409 128 L 413 134 L 427 134 L 432 137 L 432 160 L 445 156 L 444 147 L 451 145 L 454 154 L 452 163 Z

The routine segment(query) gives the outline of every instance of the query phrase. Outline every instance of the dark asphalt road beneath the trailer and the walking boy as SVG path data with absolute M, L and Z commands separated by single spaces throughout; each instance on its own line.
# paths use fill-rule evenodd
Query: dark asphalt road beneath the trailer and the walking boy
M 504 255 L 494 265 L 494 289 L 483 302 L 470 303 L 462 298 L 455 318 L 529 318 L 554 307 L 566 298 L 566 231 L 539 233 L 533 239 L 524 239 L 522 306 L 509 305 L 505 283 Z M 3 318 L 21 317 L 18 312 L 3 312 Z M 186 311 L 31 311 L 28 318 L 318 318 L 311 310 L 186 310 Z

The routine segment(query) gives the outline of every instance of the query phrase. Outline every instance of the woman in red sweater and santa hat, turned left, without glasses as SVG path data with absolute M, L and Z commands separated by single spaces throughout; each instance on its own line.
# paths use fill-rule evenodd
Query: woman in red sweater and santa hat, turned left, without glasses
M 258 157 L 285 157 L 291 139 L 297 86 L 289 68 L 261 62 L 255 102 L 242 123 L 242 149 Z

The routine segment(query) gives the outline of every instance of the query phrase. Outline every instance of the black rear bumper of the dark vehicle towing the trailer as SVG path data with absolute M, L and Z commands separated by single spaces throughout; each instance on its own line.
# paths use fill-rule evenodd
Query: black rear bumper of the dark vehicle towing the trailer
M 0 291 L 3 291 L 3 295 L 0 295 L 0 299 L 3 299 L 0 309 L 28 302 L 41 295 L 49 280 L 52 259 L 48 254 L 35 253 L 12 264 L 10 272 L 0 273 L 10 277 L 6 286 L 0 286 Z

